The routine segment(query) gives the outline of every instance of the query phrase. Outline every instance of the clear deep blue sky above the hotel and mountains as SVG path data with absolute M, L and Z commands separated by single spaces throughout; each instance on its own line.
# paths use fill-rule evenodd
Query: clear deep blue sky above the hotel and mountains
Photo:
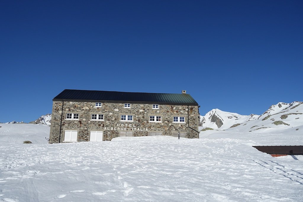
M 303 101 L 303 1 L 0 2 L 0 122 L 64 89 L 188 94 L 262 114 Z

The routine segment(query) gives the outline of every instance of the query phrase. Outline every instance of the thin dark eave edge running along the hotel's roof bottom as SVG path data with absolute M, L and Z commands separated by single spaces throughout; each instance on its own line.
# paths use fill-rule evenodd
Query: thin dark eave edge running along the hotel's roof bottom
M 176 103 L 176 102 L 146 102 L 146 101 L 110 101 L 110 100 L 73 100 L 73 99 L 53 99 L 53 101 L 71 101 L 71 102 L 104 102 L 104 103 L 136 103 L 136 104 L 171 104 L 198 106 L 198 103 Z

